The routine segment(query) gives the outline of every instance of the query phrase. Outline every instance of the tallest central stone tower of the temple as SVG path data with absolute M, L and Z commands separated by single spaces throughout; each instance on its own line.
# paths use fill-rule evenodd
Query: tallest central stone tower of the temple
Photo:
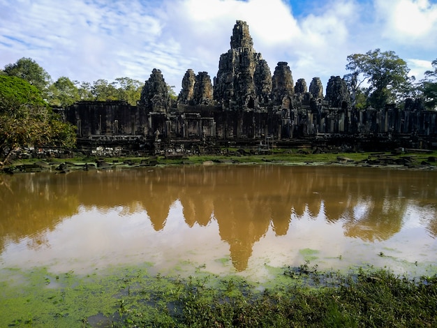
M 249 26 L 237 20 L 230 37 L 230 50 L 220 56 L 214 81 L 214 99 L 221 102 L 226 110 L 253 109 L 271 89 L 267 75 L 270 75 L 269 67 L 261 54 L 253 49 Z

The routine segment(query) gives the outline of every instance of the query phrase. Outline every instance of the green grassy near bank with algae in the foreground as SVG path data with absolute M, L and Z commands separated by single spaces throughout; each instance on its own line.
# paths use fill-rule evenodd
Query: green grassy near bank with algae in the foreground
M 7 271 L 7 270 L 6 270 Z M 3 271 L 3 275 L 5 272 Z M 243 278 L 9 270 L 5 327 L 436 327 L 437 276 L 321 273 L 308 263 L 260 285 Z M 276 282 L 275 282 L 276 281 Z

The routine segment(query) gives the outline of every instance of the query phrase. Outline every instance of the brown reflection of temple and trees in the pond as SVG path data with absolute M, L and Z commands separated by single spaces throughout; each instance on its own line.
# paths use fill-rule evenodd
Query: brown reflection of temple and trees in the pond
M 144 211 L 154 230 L 163 230 L 177 200 L 189 227 L 216 220 L 239 271 L 270 227 L 277 236 L 285 235 L 290 221 L 303 217 L 341 222 L 346 237 L 375 241 L 399 232 L 413 208 L 429 234 L 437 237 L 435 172 L 217 165 L 0 179 L 0 251 L 6 239 L 29 236 L 30 246 L 37 247 L 45 242 L 44 232 L 79 207 L 104 211 L 121 206 L 124 214 Z

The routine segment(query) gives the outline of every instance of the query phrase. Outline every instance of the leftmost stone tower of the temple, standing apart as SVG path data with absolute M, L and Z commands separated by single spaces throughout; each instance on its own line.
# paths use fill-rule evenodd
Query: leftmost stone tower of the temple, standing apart
M 140 106 L 144 106 L 152 112 L 167 112 L 170 106 L 168 87 L 165 83 L 161 70 L 154 68 L 149 80 L 142 87 Z

